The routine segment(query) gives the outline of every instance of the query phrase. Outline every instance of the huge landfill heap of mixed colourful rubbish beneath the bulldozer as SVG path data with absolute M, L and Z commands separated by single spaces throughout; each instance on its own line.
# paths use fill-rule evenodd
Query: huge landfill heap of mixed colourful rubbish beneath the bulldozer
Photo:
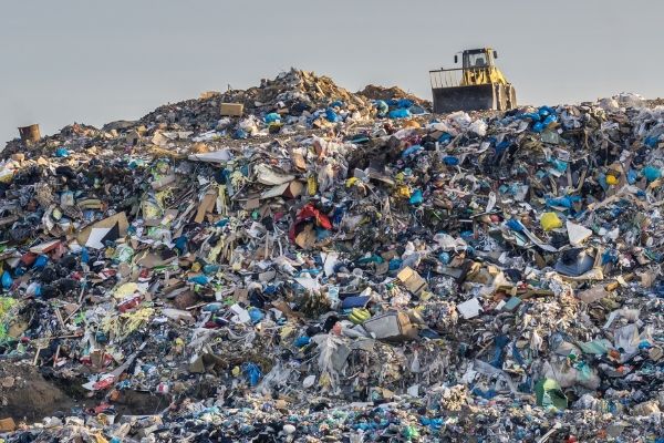
M 291 70 L 9 142 L 0 442 L 662 442 L 664 106 Z

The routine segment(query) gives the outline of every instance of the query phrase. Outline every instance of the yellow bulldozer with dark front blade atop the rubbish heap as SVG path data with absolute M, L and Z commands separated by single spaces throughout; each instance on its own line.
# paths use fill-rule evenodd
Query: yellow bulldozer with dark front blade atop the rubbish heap
M 496 66 L 498 52 L 491 48 L 468 49 L 461 55 L 461 68 L 429 71 L 434 112 L 498 110 L 517 107 L 517 92 Z

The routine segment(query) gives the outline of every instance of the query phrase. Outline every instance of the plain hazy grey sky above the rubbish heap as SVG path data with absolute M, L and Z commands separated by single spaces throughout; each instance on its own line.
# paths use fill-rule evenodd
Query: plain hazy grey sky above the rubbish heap
M 0 147 L 17 126 L 135 120 L 291 66 L 430 100 L 428 71 L 481 47 L 519 104 L 658 97 L 663 16 L 649 0 L 3 0 Z

